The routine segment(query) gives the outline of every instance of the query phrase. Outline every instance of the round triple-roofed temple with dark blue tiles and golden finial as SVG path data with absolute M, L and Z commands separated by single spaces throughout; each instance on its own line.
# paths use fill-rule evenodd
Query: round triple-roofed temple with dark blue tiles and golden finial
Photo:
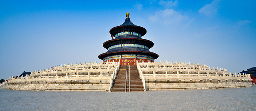
M 126 19 L 122 25 L 110 29 L 112 39 L 103 43 L 108 51 L 99 55 L 103 62 L 120 61 L 121 65 L 136 65 L 136 61 L 153 62 L 158 58 L 158 54 L 149 51 L 154 43 L 141 38 L 147 30 L 134 25 L 129 15 L 126 13 Z

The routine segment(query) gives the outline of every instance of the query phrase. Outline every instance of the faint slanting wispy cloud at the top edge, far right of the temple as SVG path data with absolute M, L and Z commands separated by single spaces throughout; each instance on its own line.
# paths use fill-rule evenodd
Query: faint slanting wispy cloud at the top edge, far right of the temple
M 203 13 L 206 16 L 212 16 L 217 14 L 219 0 L 213 0 L 210 4 L 205 4 L 198 10 L 199 13 Z

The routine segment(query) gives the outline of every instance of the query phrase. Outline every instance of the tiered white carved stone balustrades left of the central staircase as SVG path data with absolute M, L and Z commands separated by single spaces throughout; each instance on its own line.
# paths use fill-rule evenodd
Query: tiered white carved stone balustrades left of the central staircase
M 82 64 L 81 64 L 82 65 Z M 19 81 L 57 81 L 57 80 L 110 80 L 116 77 L 116 73 L 120 68 L 120 62 L 111 63 L 90 63 L 89 68 L 83 67 L 79 68 L 78 65 L 74 67 L 69 67 L 68 72 L 55 72 L 56 68 L 51 68 L 51 70 L 34 72 L 31 75 L 23 75 L 19 78 L 18 76 L 9 77 L 9 82 L 19 82 Z M 79 64 L 80 66 L 80 64 Z M 89 70 L 87 70 L 89 69 Z M 58 67 L 56 70 L 59 70 Z M 80 70 L 80 71 L 79 71 Z M 51 73 L 48 73 L 51 71 Z M 41 73 L 42 72 L 42 73 Z

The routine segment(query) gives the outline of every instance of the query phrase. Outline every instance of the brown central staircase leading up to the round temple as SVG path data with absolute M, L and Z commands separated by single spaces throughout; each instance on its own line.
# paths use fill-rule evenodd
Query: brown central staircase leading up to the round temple
M 130 69 L 129 69 L 130 67 Z M 126 77 L 126 68 L 127 68 L 127 77 Z M 129 75 L 130 70 L 130 75 Z M 136 65 L 131 66 L 120 66 L 120 69 L 117 74 L 117 78 L 114 81 L 112 92 L 129 92 L 129 77 L 130 77 L 130 91 L 144 91 L 142 87 L 141 80 L 139 78 L 139 72 Z M 127 79 L 126 83 L 125 80 Z

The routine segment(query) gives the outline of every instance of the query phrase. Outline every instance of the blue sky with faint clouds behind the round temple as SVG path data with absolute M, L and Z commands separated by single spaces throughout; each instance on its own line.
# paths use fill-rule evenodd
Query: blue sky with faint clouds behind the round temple
M 0 79 L 23 70 L 101 60 L 109 30 L 147 29 L 156 61 L 241 72 L 256 66 L 255 0 L 0 1 Z

